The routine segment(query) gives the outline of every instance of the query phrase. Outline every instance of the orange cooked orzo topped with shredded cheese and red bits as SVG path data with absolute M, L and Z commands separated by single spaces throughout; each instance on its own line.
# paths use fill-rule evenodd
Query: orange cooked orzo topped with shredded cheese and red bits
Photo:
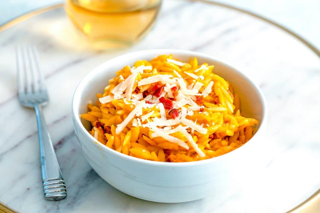
M 223 155 L 250 140 L 258 121 L 241 116 L 239 96 L 213 68 L 172 55 L 138 60 L 116 72 L 81 118 L 96 140 L 125 155 L 164 162 Z

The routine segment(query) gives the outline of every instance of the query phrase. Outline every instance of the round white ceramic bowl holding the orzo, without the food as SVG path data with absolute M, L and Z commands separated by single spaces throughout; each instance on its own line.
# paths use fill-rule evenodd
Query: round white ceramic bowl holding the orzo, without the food
M 143 160 L 119 153 L 97 142 L 89 133 L 90 122 L 79 114 L 87 111 L 89 100 L 96 101 L 108 80 L 125 65 L 136 60 L 151 60 L 158 55 L 173 54 L 188 61 L 214 65 L 214 72 L 229 81 L 239 94 L 244 116 L 256 118 L 259 124 L 250 141 L 242 147 L 215 158 L 183 163 Z M 250 178 L 256 168 L 257 150 L 262 147 L 267 122 L 267 103 L 260 88 L 242 72 L 209 55 L 176 49 L 152 49 L 132 52 L 113 58 L 93 69 L 79 83 L 72 100 L 73 123 L 84 156 L 101 178 L 116 189 L 148 201 L 187 202 L 229 190 L 241 176 Z M 112 195 L 110 195 L 112 196 Z

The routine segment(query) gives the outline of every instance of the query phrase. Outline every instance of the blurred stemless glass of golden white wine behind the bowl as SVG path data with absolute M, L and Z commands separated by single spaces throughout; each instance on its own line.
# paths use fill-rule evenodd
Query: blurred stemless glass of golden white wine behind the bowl
M 118 49 L 143 38 L 162 0 L 66 0 L 65 10 L 98 49 Z

